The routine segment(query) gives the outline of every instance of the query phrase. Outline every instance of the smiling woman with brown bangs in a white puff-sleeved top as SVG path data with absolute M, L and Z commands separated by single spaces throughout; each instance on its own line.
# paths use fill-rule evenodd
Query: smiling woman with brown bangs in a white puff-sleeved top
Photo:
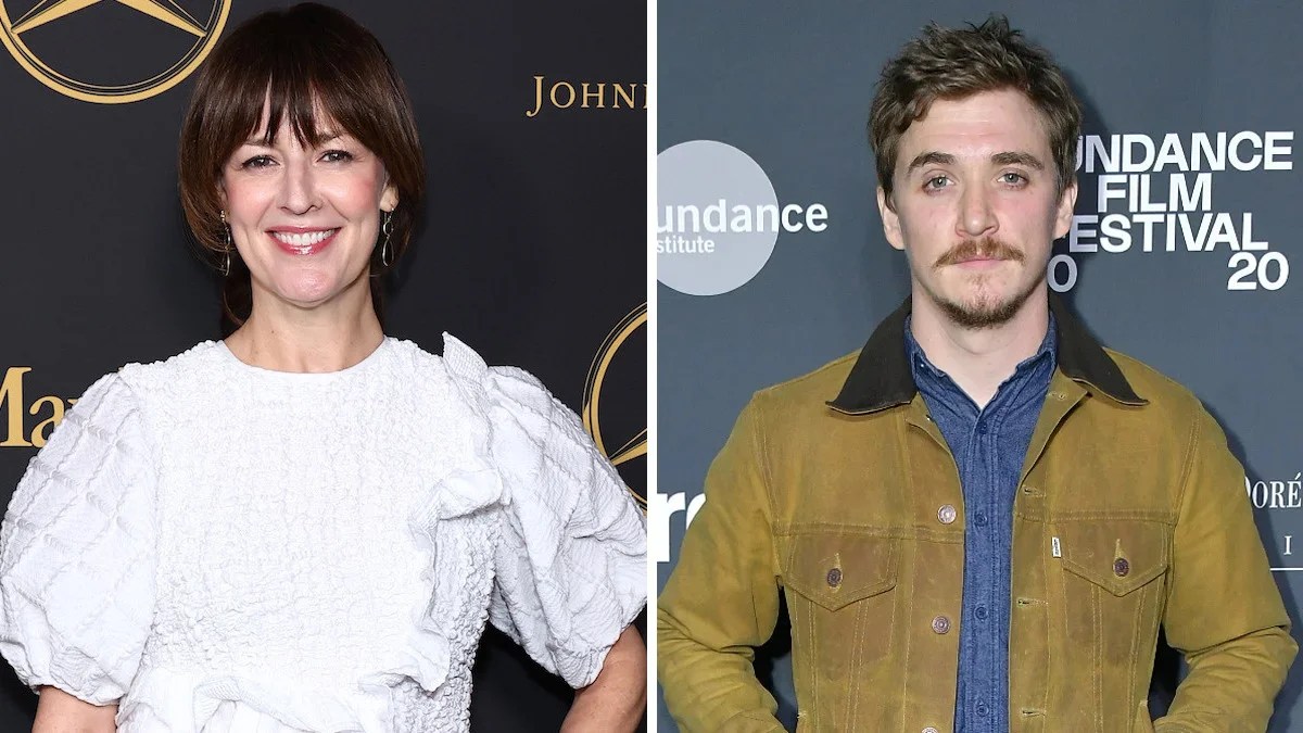
M 36 730 L 465 730 L 485 621 L 632 729 L 645 533 L 528 373 L 386 338 L 423 185 L 384 52 L 300 5 L 201 72 L 181 200 L 229 335 L 93 385 L 14 493 L 0 652 Z

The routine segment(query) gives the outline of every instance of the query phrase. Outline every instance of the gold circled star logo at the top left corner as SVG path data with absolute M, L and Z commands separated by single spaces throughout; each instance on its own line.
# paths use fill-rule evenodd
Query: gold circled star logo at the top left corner
M 130 81 L 103 82 L 77 80 L 56 70 L 42 60 L 29 46 L 26 34 L 47 23 L 66 22 L 69 16 L 100 3 L 117 5 L 172 27 L 172 33 L 193 37 L 193 42 L 180 43 L 179 56 L 163 59 L 150 76 Z M 18 64 L 36 80 L 60 94 L 99 104 L 125 104 L 149 99 L 181 82 L 203 63 L 227 25 L 231 0 L 211 0 L 207 14 L 192 14 L 175 0 L 42 0 L 17 17 L 10 17 L 13 0 L 0 0 L 0 40 Z M 50 26 L 55 27 L 53 25 Z M 47 29 L 48 31 L 50 29 Z

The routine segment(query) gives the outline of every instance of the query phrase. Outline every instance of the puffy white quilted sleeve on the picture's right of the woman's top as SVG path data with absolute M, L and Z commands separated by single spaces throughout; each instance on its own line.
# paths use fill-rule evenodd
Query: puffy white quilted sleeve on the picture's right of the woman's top
M 646 603 L 646 527 L 579 417 L 529 373 L 487 374 L 491 455 L 509 496 L 494 626 L 572 687 Z

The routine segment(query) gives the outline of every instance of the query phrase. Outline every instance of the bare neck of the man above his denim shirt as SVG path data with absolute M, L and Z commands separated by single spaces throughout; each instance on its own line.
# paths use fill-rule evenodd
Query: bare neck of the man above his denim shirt
M 1020 363 L 1036 355 L 1050 317 L 1044 288 L 1007 322 L 989 329 L 966 329 L 917 293 L 912 313 L 909 331 L 928 361 L 949 374 L 979 408 L 986 407 Z

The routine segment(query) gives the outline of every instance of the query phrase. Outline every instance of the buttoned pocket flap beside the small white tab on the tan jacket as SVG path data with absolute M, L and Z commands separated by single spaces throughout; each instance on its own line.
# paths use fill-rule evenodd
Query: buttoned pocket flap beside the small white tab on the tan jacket
M 1167 570 L 1167 526 L 1140 519 L 1072 519 L 1057 526 L 1063 567 L 1115 596 Z

